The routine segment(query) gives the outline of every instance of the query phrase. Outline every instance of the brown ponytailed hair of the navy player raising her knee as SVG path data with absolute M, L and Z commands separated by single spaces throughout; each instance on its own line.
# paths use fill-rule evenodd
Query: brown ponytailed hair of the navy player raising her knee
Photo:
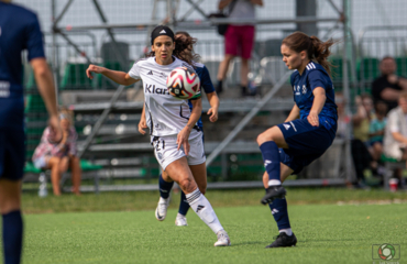
M 283 40 L 283 44 L 287 45 L 290 50 L 296 53 L 302 51 L 307 52 L 309 59 L 315 59 L 317 63 L 322 65 L 329 75 L 331 75 L 332 64 L 328 61 L 331 51 L 329 50 L 337 41 L 332 38 L 322 42 L 317 36 L 308 36 L 302 32 L 294 32 Z

